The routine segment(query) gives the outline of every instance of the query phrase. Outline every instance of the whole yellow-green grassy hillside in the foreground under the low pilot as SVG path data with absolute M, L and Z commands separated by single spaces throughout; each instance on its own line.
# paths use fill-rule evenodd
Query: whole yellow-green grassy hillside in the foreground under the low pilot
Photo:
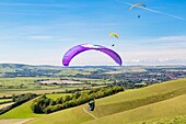
M 84 106 L 86 108 L 86 105 Z M 184 110 L 186 110 L 186 79 L 179 79 L 147 88 L 127 90 L 112 97 L 96 100 L 95 111 L 91 112 L 91 114 L 95 115 L 97 120 L 88 122 L 88 124 L 113 124 L 120 123 L 121 120 L 124 120 L 124 123 L 127 123 L 131 122 L 131 120 L 136 122 L 154 117 L 183 115 L 186 114 Z M 72 119 L 63 117 L 61 123 L 79 124 L 78 120 L 81 119 L 79 116 L 82 115 L 89 117 L 85 117 L 86 120 L 82 117 L 81 120 L 84 121 L 81 121 L 81 123 L 93 120 L 92 116 L 83 112 L 83 106 L 78 106 L 36 119 L 30 123 L 39 124 L 40 122 L 45 122 L 45 120 L 51 120 L 48 123 L 46 122 L 46 124 L 60 124 L 59 120 L 62 115 L 70 115 L 72 113 Z M 56 120 L 53 120 L 54 117 Z

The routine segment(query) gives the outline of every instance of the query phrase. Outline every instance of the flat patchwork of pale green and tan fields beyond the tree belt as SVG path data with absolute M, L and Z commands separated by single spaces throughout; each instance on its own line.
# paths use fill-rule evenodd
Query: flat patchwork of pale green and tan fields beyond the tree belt
M 47 81 L 39 81 L 39 80 L 47 80 Z M 12 94 L 23 94 L 28 92 L 42 94 L 42 93 L 62 92 L 66 90 L 89 88 L 90 84 L 85 84 L 83 81 L 90 83 L 91 82 L 104 83 L 104 81 L 96 80 L 96 79 L 79 78 L 78 80 L 81 81 L 71 81 L 71 80 L 61 81 L 59 80 L 59 78 L 47 78 L 47 77 L 0 78 L 0 98 L 12 97 Z

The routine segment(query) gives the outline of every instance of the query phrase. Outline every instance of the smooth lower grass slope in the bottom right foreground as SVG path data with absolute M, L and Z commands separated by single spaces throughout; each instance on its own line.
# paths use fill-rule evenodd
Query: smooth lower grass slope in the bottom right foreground
M 84 124 L 127 124 L 139 121 L 186 115 L 186 94 L 138 109 L 107 115 Z

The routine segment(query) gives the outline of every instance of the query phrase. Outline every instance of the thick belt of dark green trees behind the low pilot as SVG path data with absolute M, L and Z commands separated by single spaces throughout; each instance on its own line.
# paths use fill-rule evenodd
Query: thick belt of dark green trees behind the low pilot
M 89 102 L 92 99 L 100 99 L 124 91 L 123 87 L 97 88 L 83 92 L 75 92 L 72 95 L 65 95 L 53 100 L 45 94 L 33 101 L 31 109 L 34 113 L 53 113 L 59 110 L 77 106 Z

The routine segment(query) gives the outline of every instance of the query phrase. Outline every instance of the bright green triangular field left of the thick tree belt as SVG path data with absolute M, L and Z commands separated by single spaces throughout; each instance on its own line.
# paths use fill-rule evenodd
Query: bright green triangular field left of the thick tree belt
M 44 114 L 35 114 L 32 112 L 31 110 L 32 101 L 33 100 L 26 103 L 23 103 L 22 105 L 16 106 L 10 110 L 9 112 L 0 115 L 0 120 L 2 119 L 30 119 L 30 117 L 38 117 L 38 116 L 44 115 Z

